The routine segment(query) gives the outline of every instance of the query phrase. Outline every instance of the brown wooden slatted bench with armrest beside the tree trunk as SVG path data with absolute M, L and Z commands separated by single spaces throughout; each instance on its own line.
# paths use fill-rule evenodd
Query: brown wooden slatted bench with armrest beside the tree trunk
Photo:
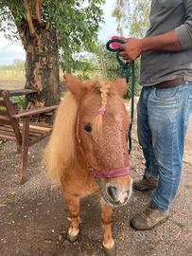
M 40 114 L 54 113 L 56 106 L 40 107 L 18 112 L 18 105 L 11 101 L 11 96 L 27 95 L 27 90 L 0 90 L 0 138 L 15 140 L 17 152 L 21 153 L 21 184 L 26 182 L 26 163 L 28 147 L 50 135 L 52 125 L 31 123 L 31 117 Z

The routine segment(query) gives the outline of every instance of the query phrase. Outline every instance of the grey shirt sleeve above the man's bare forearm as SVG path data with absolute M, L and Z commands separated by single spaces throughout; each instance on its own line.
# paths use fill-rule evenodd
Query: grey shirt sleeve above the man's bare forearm
M 192 1 L 183 0 L 185 9 L 185 21 L 180 27 L 176 27 L 175 31 L 180 40 L 183 49 L 192 48 Z

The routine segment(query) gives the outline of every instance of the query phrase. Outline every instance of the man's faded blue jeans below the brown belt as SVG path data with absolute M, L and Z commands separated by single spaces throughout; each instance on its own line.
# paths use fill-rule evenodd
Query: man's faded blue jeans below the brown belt
M 138 103 L 138 138 L 146 159 L 145 177 L 158 180 L 151 203 L 166 211 L 178 190 L 184 137 L 192 113 L 192 82 L 160 89 L 143 87 Z

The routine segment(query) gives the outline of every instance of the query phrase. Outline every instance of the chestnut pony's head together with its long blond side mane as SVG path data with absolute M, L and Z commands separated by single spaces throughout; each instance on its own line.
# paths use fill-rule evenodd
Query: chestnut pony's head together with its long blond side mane
M 48 173 L 61 179 L 71 167 L 86 168 L 96 174 L 109 204 L 124 205 L 132 184 L 128 172 L 130 118 L 122 99 L 126 82 L 80 82 L 69 74 L 64 77 L 69 92 L 61 101 L 45 149 Z

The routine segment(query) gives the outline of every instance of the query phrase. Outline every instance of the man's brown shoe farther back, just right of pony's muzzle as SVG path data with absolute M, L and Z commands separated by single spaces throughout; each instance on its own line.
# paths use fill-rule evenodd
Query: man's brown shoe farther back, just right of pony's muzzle
M 154 190 L 157 187 L 157 180 L 153 177 L 142 178 L 140 180 L 133 181 L 132 188 L 143 192 L 147 190 Z

